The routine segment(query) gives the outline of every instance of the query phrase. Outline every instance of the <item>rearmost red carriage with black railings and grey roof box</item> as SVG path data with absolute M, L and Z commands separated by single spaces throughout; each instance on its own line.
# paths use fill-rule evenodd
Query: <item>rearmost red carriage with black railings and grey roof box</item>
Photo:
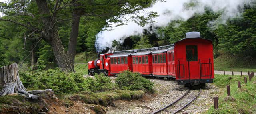
M 172 49 L 169 50 L 169 55 L 172 55 Z M 178 84 L 213 83 L 212 41 L 201 38 L 200 32 L 188 32 L 186 38 L 174 43 L 174 61 Z M 170 64 L 173 65 L 172 62 Z

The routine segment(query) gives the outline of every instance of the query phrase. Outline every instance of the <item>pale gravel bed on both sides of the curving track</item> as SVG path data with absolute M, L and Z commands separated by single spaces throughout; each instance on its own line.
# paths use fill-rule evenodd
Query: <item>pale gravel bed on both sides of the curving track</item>
M 107 114 L 150 114 L 174 102 L 188 90 L 188 88 L 178 85 L 176 81 L 150 80 L 155 84 L 156 94 L 153 96 L 146 95 L 140 100 L 115 101 L 115 107 L 108 107 Z M 212 98 L 217 96 L 218 91 L 218 88 L 212 84 L 206 84 L 206 88 L 202 90 L 200 96 L 179 113 L 198 114 L 205 112 L 213 104 Z

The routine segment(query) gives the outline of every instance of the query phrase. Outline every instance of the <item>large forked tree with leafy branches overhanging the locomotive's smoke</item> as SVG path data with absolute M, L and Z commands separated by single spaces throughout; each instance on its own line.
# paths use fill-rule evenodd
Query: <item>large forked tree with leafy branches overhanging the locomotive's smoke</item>
M 63 71 L 74 71 L 80 17 L 100 17 L 108 19 L 107 22 L 119 22 L 122 25 L 120 17 L 137 14 L 138 10 L 156 1 L 158 0 L 10 0 L 9 4 L 0 4 L 0 11 L 6 15 L 0 20 L 19 25 L 26 33 L 36 34 L 51 45 L 58 66 Z M 156 12 L 149 12 L 146 17 L 136 15 L 127 20 L 144 26 L 156 16 Z M 58 28 L 64 22 L 69 22 L 71 28 L 67 50 Z

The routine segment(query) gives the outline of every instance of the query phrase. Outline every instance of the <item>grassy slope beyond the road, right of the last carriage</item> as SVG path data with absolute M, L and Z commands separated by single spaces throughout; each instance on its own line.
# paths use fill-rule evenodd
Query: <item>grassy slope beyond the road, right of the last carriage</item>
M 214 70 L 256 72 L 256 63 L 251 58 L 220 55 L 214 58 Z

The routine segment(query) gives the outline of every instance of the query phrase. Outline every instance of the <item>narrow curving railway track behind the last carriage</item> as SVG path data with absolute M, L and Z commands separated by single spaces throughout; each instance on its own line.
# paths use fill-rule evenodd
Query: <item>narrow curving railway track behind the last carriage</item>
M 192 101 L 194 101 L 200 93 L 201 89 L 199 90 L 199 92 L 198 90 L 188 90 L 185 94 L 183 94 L 180 98 L 178 98 L 168 106 L 165 106 L 164 108 L 161 108 L 160 110 L 157 110 L 156 112 L 153 112 L 151 114 L 157 114 L 160 112 L 164 114 L 175 114 L 177 112 L 180 112 L 180 110 L 184 109 Z

